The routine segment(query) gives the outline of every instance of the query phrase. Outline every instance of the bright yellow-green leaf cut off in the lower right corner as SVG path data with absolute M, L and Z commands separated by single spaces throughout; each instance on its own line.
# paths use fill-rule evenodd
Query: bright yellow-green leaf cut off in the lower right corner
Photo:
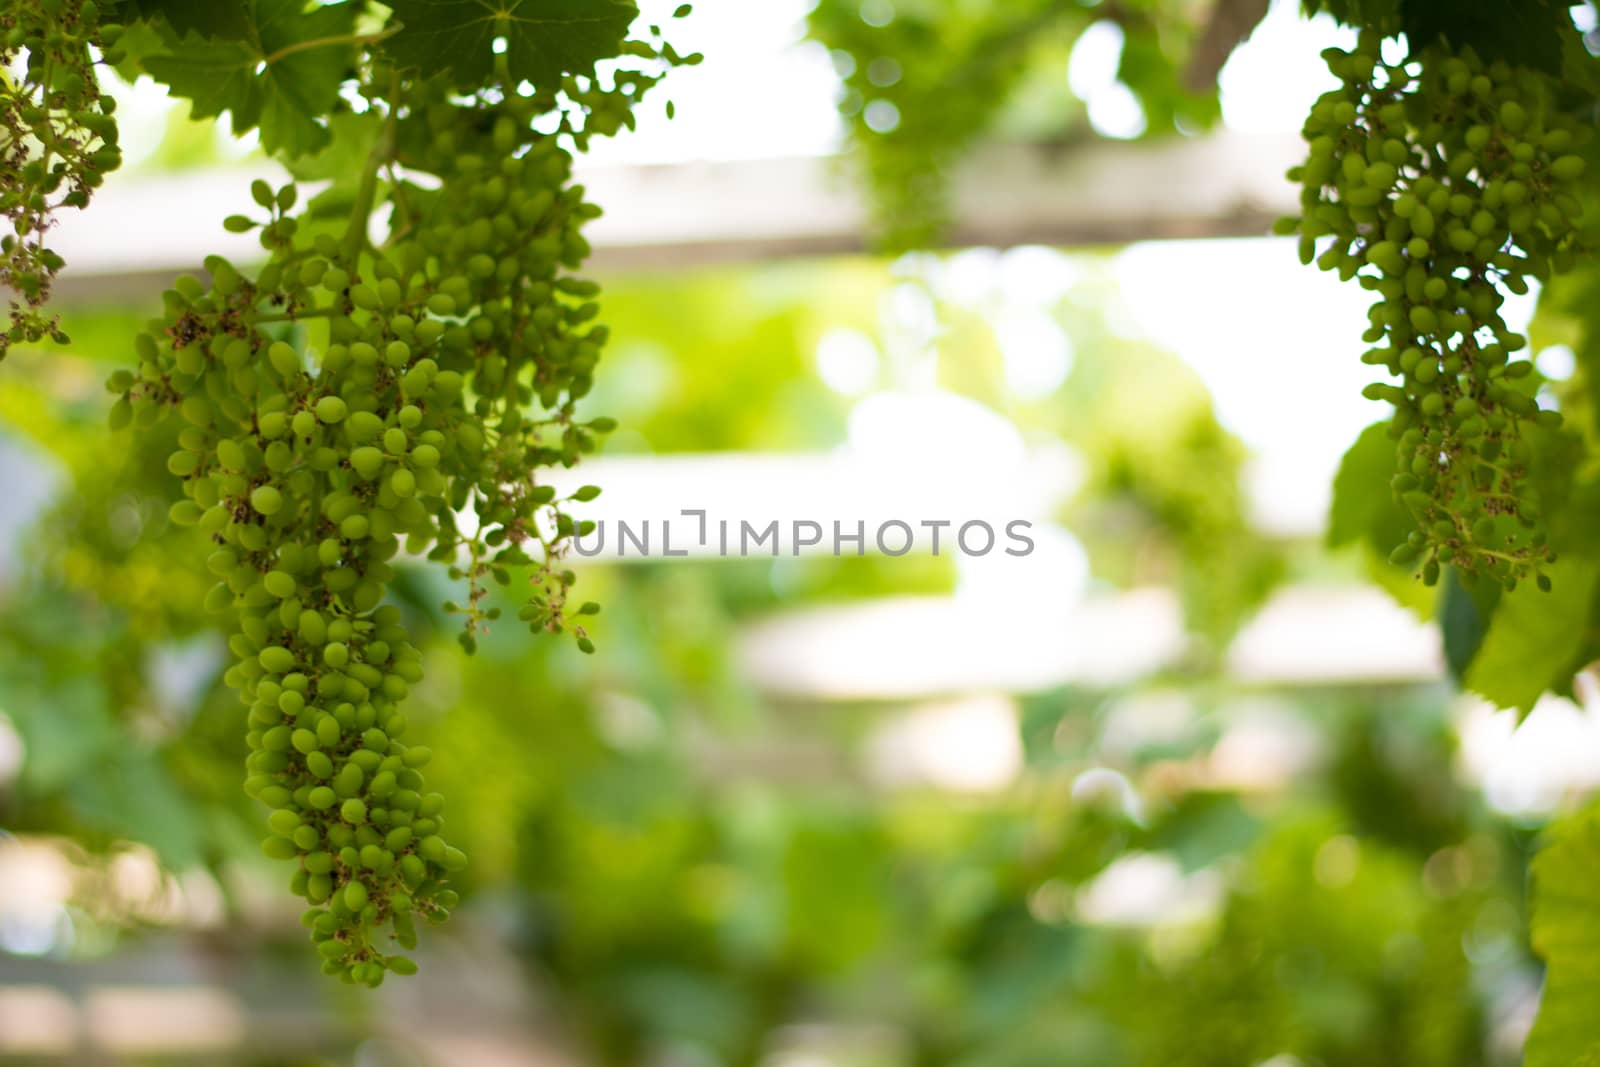
M 1533 859 L 1533 947 L 1546 963 L 1525 1067 L 1600 1067 L 1600 809 L 1550 827 Z

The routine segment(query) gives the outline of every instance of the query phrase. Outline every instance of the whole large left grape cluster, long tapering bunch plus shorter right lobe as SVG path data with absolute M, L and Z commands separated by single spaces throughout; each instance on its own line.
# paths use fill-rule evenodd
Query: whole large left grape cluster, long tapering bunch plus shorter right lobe
M 469 651 L 498 616 L 486 581 L 512 568 L 533 573 L 530 629 L 592 649 L 576 622 L 597 608 L 568 609 L 560 558 L 586 530 L 565 502 L 597 491 L 557 498 L 538 474 L 611 427 L 573 418 L 606 339 L 597 286 L 570 274 L 598 211 L 531 117 L 526 101 L 411 109 L 440 182 L 395 187 L 382 248 L 366 238 L 371 173 L 342 242 L 301 234 L 294 186 L 258 182 L 267 218 L 226 226 L 259 229 L 267 264 L 246 277 L 211 258 L 210 283 L 179 278 L 138 338 L 138 371 L 110 382 L 114 426 L 184 424 L 171 517 L 216 544 L 208 606 L 237 619 L 226 681 L 250 709 L 266 851 L 296 864 L 323 969 L 368 985 L 414 969 L 390 941 L 410 949 L 416 917 L 443 918 L 466 865 L 424 790 L 430 753 L 402 741 L 422 670 L 384 603 L 395 557 L 467 579 Z

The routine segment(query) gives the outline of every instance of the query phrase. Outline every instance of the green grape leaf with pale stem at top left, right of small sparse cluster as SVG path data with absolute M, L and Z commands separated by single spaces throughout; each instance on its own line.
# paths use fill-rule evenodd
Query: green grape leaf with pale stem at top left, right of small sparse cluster
M 224 110 L 234 133 L 261 128 L 267 152 L 307 155 L 328 144 L 317 122 L 339 99 L 354 62 L 354 3 L 302 11 L 298 0 L 246 0 L 242 40 L 186 40 L 171 54 L 149 56 L 144 69 L 173 96 L 194 101 L 194 117 Z

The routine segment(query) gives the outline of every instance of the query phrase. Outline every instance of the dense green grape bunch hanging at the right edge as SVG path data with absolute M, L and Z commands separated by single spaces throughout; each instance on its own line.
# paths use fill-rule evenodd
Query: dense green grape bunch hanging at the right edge
M 1310 154 L 1299 254 L 1378 296 L 1362 360 L 1398 376 L 1365 395 L 1394 405 L 1397 498 L 1416 530 L 1390 557 L 1507 589 L 1554 560 L 1526 483 L 1530 426 L 1558 426 L 1531 390 L 1526 347 L 1501 317 L 1504 291 L 1568 269 L 1581 251 L 1574 182 L 1587 136 L 1552 106 L 1544 75 L 1470 50 L 1386 64 L 1381 37 L 1330 48 L 1342 86 L 1306 122 Z

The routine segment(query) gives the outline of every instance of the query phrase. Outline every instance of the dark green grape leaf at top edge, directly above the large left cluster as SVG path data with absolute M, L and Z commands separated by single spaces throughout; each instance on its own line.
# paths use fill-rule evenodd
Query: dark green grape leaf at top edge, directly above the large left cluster
M 390 0 L 400 30 L 384 42 L 395 62 L 450 67 L 461 88 L 493 82 L 494 42 L 506 40 L 510 82 L 555 86 L 614 56 L 638 14 L 634 0 Z

